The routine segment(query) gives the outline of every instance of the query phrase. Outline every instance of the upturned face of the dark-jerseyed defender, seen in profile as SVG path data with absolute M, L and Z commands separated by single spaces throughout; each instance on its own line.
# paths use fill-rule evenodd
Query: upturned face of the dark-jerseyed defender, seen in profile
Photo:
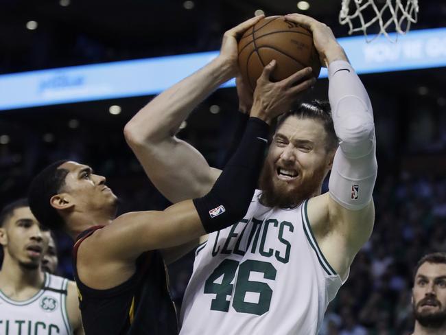
M 91 167 L 67 161 L 59 168 L 68 170 L 61 193 L 69 194 L 78 209 L 89 211 L 116 207 L 117 196 L 105 185 L 106 178 L 94 174 Z

